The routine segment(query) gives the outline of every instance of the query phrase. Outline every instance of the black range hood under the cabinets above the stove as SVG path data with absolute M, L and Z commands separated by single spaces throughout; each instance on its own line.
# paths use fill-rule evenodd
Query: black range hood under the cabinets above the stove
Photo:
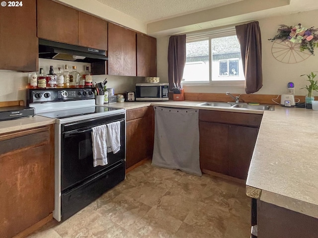
M 39 39 L 39 58 L 78 62 L 105 61 L 106 51 Z

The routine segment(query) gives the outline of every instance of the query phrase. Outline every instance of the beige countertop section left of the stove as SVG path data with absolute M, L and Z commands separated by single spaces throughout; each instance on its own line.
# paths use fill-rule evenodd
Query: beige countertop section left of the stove
M 27 117 L 14 120 L 4 120 L 0 121 L 0 134 L 54 123 L 55 119 L 41 116 Z

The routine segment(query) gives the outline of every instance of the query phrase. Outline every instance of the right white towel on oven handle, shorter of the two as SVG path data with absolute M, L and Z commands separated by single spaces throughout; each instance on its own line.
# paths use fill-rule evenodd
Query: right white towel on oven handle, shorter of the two
M 107 126 L 107 152 L 116 154 L 120 151 L 120 121 L 106 124 Z

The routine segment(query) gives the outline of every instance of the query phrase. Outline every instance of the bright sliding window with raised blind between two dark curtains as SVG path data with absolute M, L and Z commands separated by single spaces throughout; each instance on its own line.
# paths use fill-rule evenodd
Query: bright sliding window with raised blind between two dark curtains
M 235 28 L 187 35 L 185 84 L 244 84 Z

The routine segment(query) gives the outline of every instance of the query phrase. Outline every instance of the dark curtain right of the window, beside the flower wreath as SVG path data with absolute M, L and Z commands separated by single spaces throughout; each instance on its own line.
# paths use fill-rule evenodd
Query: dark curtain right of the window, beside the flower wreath
M 235 27 L 245 75 L 245 92 L 257 92 L 263 86 L 262 42 L 258 21 Z

